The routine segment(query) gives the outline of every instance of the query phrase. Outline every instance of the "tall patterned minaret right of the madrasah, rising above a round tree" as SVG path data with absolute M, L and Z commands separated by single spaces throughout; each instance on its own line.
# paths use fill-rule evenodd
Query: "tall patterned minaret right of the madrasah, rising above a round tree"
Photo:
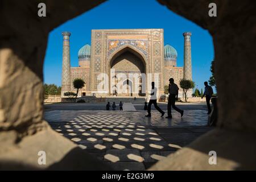
M 192 65 L 191 65 L 191 32 L 184 32 L 184 79 L 192 80 Z

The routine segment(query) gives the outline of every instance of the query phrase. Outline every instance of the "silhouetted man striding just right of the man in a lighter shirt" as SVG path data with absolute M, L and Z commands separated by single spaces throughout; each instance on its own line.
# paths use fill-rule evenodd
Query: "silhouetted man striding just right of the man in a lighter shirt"
M 169 89 L 168 89 L 169 98 L 168 98 L 168 105 L 167 105 L 168 116 L 166 118 L 172 118 L 171 107 L 174 108 L 176 111 L 178 111 L 182 117 L 184 114 L 184 110 L 181 110 L 175 106 L 175 101 L 177 100 L 177 96 L 179 93 L 179 87 L 174 83 L 174 78 L 170 78 L 169 81 L 170 81 Z

